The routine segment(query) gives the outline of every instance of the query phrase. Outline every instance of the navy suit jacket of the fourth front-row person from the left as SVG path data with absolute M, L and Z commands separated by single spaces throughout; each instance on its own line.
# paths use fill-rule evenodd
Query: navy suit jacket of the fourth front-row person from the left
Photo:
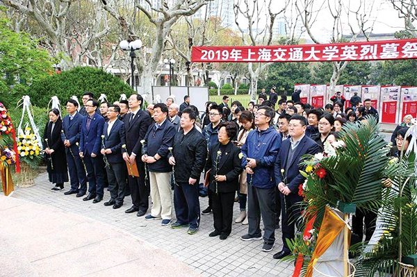
M 126 137 L 124 134 L 124 123 L 116 119 L 111 127 L 110 134 L 107 135 L 108 122 L 104 124 L 104 146 L 101 149 L 110 149 L 111 154 L 106 154 L 108 162 L 123 162 L 122 145 L 126 144 Z

